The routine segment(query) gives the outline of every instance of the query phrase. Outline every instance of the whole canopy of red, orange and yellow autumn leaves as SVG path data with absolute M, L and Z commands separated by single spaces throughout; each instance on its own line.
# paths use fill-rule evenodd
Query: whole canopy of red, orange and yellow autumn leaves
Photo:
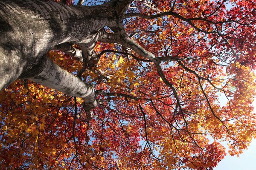
M 151 2 L 157 10 L 132 4 L 127 13 L 143 16 L 127 17 L 125 30 L 163 59 L 176 91 L 152 62 L 99 42 L 96 53 L 108 52 L 82 75 L 104 101 L 90 122 L 82 99 L 42 85 L 18 80 L 0 92 L 0 167 L 206 170 L 226 155 L 220 142 L 229 143 L 231 155 L 247 148 L 256 136 L 255 3 Z M 49 57 L 73 74 L 82 67 L 61 51 Z

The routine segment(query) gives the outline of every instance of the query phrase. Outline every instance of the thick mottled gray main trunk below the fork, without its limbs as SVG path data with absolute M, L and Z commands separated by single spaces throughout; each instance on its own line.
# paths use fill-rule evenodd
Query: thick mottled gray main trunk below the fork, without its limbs
M 0 1 L 0 89 L 38 73 L 41 57 L 62 42 L 79 42 L 107 23 L 89 7 L 41 0 Z

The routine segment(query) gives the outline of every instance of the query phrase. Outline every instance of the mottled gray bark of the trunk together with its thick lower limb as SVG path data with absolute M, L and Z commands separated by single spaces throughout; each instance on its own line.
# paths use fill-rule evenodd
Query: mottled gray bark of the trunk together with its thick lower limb
M 55 65 L 46 54 L 62 48 L 76 53 L 82 61 L 80 51 L 65 46 L 65 42 L 77 43 L 87 64 L 95 64 L 93 48 L 101 35 L 99 30 L 122 23 L 129 4 L 130 0 L 90 7 L 43 0 L 0 1 L 0 90 L 16 79 L 30 79 L 84 98 L 90 106 L 86 110 L 95 107 L 92 86 Z

